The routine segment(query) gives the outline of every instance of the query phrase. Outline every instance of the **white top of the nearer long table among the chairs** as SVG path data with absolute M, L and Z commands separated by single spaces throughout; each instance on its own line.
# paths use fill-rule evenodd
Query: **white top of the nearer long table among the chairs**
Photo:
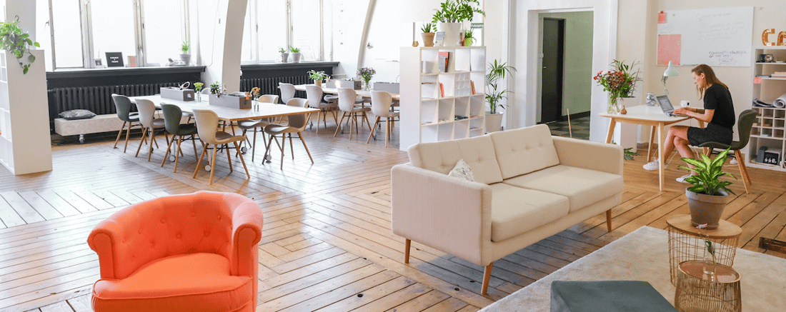
M 202 97 L 201 102 L 196 101 L 178 101 L 172 100 L 168 98 L 161 98 L 160 95 L 149 95 L 145 97 L 129 97 L 131 101 L 135 101 L 136 99 L 146 99 L 152 101 L 156 107 L 160 106 L 160 103 L 167 103 L 178 105 L 178 107 L 183 112 L 193 112 L 196 109 L 209 109 L 216 114 L 219 115 L 219 119 L 226 120 L 226 121 L 238 121 L 238 120 L 246 120 L 246 119 L 262 119 L 262 118 L 274 118 L 279 116 L 290 116 L 290 115 L 299 115 L 305 114 L 310 112 L 319 112 L 317 108 L 299 108 L 294 106 L 288 105 L 279 105 L 273 103 L 259 103 L 259 111 L 254 111 L 252 109 L 235 109 L 235 108 L 227 108 L 222 106 L 216 105 L 209 105 L 208 104 L 208 95 L 207 94 L 200 94 Z

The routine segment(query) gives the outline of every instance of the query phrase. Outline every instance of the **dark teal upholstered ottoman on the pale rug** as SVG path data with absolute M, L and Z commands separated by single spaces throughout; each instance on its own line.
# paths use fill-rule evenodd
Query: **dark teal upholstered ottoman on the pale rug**
M 553 281 L 551 312 L 676 312 L 646 281 Z

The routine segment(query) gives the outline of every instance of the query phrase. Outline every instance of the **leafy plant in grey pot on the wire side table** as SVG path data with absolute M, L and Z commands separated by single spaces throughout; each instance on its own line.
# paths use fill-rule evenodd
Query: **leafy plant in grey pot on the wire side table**
M 723 163 L 725 163 L 726 154 L 728 153 L 729 149 L 726 149 L 720 152 L 718 156 L 715 156 L 714 160 L 711 160 L 710 157 L 704 154 L 701 154 L 701 160 L 682 158 L 685 163 L 689 163 L 692 167 L 680 167 L 696 173 L 685 178 L 685 182 L 693 185 L 685 189 L 685 196 L 688 197 L 688 206 L 690 207 L 690 222 L 692 226 L 707 224 L 707 229 L 718 228 L 723 208 L 726 207 L 726 203 L 730 200 L 729 193 L 734 194 L 731 189 L 726 188 L 732 182 L 720 181 L 718 179 L 722 175 L 736 178 L 732 174 L 723 171 Z

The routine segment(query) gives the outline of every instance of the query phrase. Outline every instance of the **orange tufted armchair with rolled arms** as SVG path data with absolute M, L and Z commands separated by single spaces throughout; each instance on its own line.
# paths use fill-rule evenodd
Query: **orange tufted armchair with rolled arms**
M 101 311 L 254 311 L 262 210 L 235 193 L 196 192 L 131 205 L 87 243 Z

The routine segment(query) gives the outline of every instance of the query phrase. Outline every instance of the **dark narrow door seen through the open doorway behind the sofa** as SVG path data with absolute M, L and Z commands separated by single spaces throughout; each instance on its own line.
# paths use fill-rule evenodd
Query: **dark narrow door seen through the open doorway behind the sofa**
M 562 120 L 565 20 L 543 19 L 543 62 L 540 123 Z

